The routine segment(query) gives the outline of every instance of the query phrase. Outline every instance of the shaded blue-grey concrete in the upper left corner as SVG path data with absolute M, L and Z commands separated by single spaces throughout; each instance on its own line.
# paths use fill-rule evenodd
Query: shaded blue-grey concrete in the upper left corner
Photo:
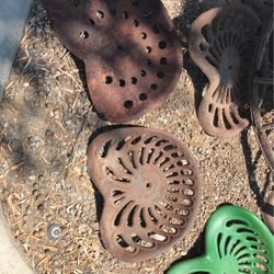
M 32 0 L 0 0 L 0 100 L 28 16 Z

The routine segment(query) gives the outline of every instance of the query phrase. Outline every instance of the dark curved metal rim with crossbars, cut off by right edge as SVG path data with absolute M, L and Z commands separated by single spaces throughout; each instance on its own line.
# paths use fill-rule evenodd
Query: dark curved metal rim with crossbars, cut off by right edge
M 258 43 L 250 78 L 250 110 L 259 144 L 274 172 L 273 15 Z

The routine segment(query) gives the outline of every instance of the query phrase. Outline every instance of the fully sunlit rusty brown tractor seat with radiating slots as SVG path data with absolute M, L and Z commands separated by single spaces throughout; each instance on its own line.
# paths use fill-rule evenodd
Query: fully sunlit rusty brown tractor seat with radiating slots
M 189 149 L 171 135 L 142 127 L 101 134 L 89 148 L 88 170 L 104 197 L 101 236 L 113 256 L 148 260 L 192 227 L 199 173 Z

